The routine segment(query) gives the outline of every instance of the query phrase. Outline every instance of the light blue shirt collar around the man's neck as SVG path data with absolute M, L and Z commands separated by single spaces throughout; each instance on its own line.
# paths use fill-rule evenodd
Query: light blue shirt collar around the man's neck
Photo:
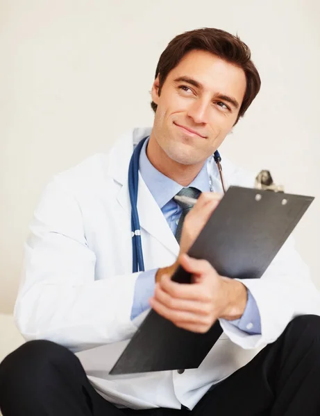
M 146 146 L 148 146 L 149 138 L 146 139 L 142 146 L 139 168 L 142 179 L 146 186 L 149 188 L 155 202 L 157 202 L 160 209 L 164 207 L 169 200 L 174 198 L 176 194 L 183 189 L 183 186 L 163 175 L 159 172 L 149 161 L 146 156 Z M 203 164 L 201 171 L 196 175 L 189 187 L 199 189 L 201 192 L 210 191 L 209 175 L 207 169 L 207 163 Z

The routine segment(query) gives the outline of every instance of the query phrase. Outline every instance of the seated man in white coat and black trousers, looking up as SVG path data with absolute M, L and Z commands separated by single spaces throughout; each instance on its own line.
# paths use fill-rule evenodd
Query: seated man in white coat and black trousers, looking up
M 259 89 L 239 38 L 183 33 L 158 63 L 153 128 L 49 183 L 15 306 L 30 342 L 0 367 L 4 416 L 319 415 L 319 293 L 292 243 L 261 279 L 228 279 L 186 254 L 219 203 L 212 153 Z M 133 273 L 128 166 L 145 137 L 137 210 L 146 271 Z M 225 158 L 224 174 L 228 184 L 254 183 Z M 199 196 L 189 214 L 174 200 L 182 190 Z M 193 284 L 171 281 L 178 264 Z M 150 306 L 189 331 L 219 320 L 224 333 L 197 369 L 110 376 Z

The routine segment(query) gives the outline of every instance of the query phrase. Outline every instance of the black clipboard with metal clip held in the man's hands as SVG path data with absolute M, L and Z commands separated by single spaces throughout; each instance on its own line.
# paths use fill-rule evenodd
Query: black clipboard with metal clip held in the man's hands
M 230 187 L 188 254 L 210 261 L 220 275 L 258 279 L 312 200 Z M 172 278 L 190 283 L 190 273 L 181 267 Z M 110 374 L 197 368 L 222 332 L 219 322 L 207 333 L 186 331 L 151 310 Z

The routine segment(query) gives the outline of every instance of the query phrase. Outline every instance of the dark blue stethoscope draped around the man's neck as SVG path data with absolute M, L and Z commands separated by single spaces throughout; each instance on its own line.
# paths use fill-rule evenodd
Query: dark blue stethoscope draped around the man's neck
M 148 136 L 149 137 L 149 136 Z M 129 185 L 129 196 L 131 204 L 131 236 L 132 236 L 132 254 L 133 254 L 133 273 L 135 272 L 144 272 L 144 259 L 142 254 L 142 243 L 141 243 L 141 229 L 140 229 L 140 220 L 137 213 L 137 189 L 138 189 L 138 179 L 139 179 L 139 159 L 142 146 L 144 141 L 148 139 L 145 137 L 140 140 L 140 142 L 133 150 L 133 155 L 130 159 L 129 170 L 128 170 L 128 185 Z M 222 189 L 226 193 L 226 187 L 224 184 L 224 176 L 222 174 L 221 168 L 221 156 L 216 150 L 213 155 L 214 162 L 217 164 L 217 168 L 220 175 Z M 210 184 L 210 189 L 212 185 Z

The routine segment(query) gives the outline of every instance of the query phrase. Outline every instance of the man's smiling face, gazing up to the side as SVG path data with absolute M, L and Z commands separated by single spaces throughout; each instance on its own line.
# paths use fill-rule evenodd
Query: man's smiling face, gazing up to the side
M 179 164 L 204 162 L 233 128 L 246 91 L 243 69 L 205 51 L 190 51 L 169 72 L 158 96 L 153 135 Z M 190 130 L 194 132 L 190 132 Z

